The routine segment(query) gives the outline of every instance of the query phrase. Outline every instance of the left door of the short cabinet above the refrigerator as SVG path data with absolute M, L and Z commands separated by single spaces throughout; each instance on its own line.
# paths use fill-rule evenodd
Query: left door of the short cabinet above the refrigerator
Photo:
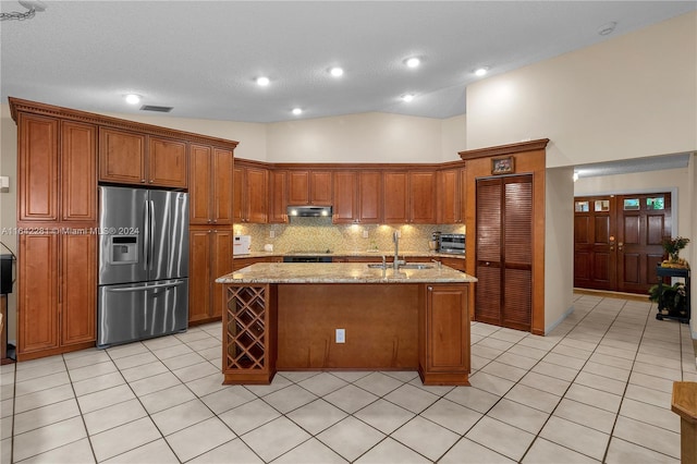
M 99 129 L 99 181 L 145 184 L 145 135 Z

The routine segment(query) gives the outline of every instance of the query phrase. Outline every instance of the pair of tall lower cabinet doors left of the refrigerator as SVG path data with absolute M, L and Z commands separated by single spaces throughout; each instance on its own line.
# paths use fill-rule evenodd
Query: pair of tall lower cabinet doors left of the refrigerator
M 20 236 L 17 359 L 94 346 L 97 235 Z

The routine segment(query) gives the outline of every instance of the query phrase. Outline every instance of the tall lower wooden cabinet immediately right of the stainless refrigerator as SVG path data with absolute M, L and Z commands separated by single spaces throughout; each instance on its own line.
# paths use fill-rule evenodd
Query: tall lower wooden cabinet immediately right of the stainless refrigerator
M 222 286 L 216 279 L 232 271 L 232 231 L 192 227 L 188 249 L 188 323 L 220 320 Z

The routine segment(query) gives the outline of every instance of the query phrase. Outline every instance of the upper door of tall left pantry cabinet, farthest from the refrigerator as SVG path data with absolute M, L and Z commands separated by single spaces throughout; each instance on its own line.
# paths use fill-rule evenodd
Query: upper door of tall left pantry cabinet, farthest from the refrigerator
M 58 219 L 58 120 L 20 113 L 19 220 Z

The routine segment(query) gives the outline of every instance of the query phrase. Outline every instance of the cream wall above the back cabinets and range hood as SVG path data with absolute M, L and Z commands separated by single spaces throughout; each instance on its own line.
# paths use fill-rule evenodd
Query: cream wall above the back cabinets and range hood
M 277 122 L 268 125 L 267 160 L 440 162 L 441 126 L 439 119 L 378 112 Z

